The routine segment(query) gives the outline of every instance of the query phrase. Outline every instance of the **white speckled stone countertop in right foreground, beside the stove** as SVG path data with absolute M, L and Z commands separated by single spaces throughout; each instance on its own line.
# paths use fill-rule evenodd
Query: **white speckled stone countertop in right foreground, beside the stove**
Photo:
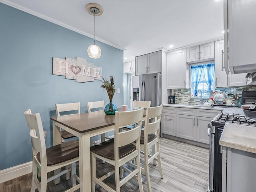
M 256 153 L 256 127 L 226 123 L 220 137 L 220 145 Z

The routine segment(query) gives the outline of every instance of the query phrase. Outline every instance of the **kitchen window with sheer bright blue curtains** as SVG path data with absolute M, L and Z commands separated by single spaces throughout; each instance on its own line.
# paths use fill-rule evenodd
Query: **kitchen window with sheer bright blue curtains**
M 209 98 L 210 92 L 214 91 L 215 88 L 214 63 L 192 65 L 190 71 L 191 97 L 195 97 L 198 90 L 201 90 L 202 98 Z

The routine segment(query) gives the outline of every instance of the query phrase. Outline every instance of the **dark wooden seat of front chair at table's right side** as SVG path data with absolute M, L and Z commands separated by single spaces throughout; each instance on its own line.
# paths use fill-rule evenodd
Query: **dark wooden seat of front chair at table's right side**
M 108 158 L 110 160 L 115 160 L 115 150 L 114 150 L 114 138 L 108 141 L 102 142 L 101 144 L 94 145 L 91 147 L 91 152 L 100 155 L 104 158 Z M 128 154 L 134 152 L 136 150 L 136 146 L 133 144 L 128 144 L 122 147 L 119 147 L 119 159 L 124 158 Z

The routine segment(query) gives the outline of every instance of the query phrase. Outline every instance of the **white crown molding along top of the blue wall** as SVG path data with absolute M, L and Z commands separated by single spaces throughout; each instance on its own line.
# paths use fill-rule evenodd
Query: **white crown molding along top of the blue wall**
M 11 6 L 11 7 L 13 7 L 13 8 L 16 8 L 16 9 L 18 9 L 18 10 L 24 11 L 24 12 L 26 12 L 26 13 L 28 13 L 28 14 L 34 15 L 34 16 L 36 16 L 36 17 L 39 17 L 39 18 L 41 18 L 41 19 L 44 19 L 44 20 L 46 20 L 46 21 L 49 21 L 49 22 L 51 22 L 51 23 L 54 23 L 54 24 L 56 24 L 56 25 L 62 26 L 62 27 L 64 27 L 64 28 L 67 28 L 67 29 L 69 29 L 69 30 L 72 30 L 72 31 L 74 31 L 74 32 L 77 32 L 77 33 L 79 33 L 79 34 L 82 34 L 82 35 L 84 35 L 84 36 L 88 36 L 88 37 L 94 39 L 94 36 L 91 35 L 91 34 L 88 34 L 88 33 L 84 32 L 84 31 L 82 31 L 82 30 L 79 30 L 79 29 L 77 29 L 77 28 L 74 28 L 74 27 L 72 27 L 72 26 L 70 26 L 70 25 L 68 25 L 68 24 L 66 24 L 66 23 L 63 23 L 63 22 L 60 22 L 60 21 L 55 20 L 55 19 L 53 19 L 53 18 L 50 18 L 50 17 L 48 17 L 48 16 L 46 16 L 46 15 L 40 14 L 40 13 L 34 11 L 34 10 L 25 8 L 24 6 L 20 6 L 20 5 L 16 4 L 16 3 L 14 3 L 14 2 L 9 1 L 9 0 L 0 0 L 0 2 L 3 3 L 3 4 L 6 4 L 6 5 L 8 5 L 8 6 Z M 107 42 L 107 41 L 105 41 L 105 40 L 103 40 L 103 39 L 101 39 L 101 38 L 98 38 L 98 37 L 96 37 L 96 36 L 95 36 L 95 40 L 100 41 L 100 42 L 105 43 L 105 44 L 108 44 L 108 45 L 110 45 L 110 46 L 112 46 L 112 47 L 114 47 L 114 48 L 118 48 L 118 49 L 120 49 L 120 50 L 122 50 L 122 51 L 125 51 L 125 50 L 126 50 L 125 48 L 122 48 L 122 47 L 119 47 L 119 46 L 117 46 L 117 45 L 114 45 L 114 44 L 112 44 L 112 43 L 110 43 L 110 42 Z

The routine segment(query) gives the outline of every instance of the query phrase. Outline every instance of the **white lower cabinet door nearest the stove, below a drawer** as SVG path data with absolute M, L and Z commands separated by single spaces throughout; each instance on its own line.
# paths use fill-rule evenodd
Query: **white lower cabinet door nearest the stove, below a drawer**
M 196 118 L 196 141 L 209 144 L 209 136 L 207 134 L 208 123 L 212 120 L 210 117 Z

